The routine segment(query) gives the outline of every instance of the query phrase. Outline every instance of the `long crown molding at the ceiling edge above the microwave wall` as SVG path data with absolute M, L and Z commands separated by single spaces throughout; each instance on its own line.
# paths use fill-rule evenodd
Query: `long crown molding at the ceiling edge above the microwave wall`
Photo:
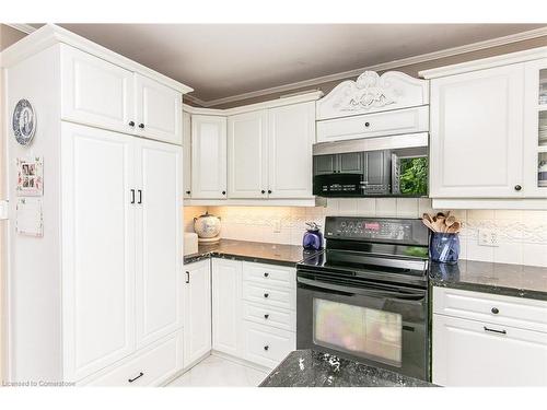
M 478 42 L 478 43 L 472 43 L 472 44 L 467 44 L 464 46 L 446 48 L 444 50 L 428 52 L 428 54 L 423 54 L 423 55 L 419 55 L 419 56 L 415 56 L 415 57 L 401 58 L 398 60 L 382 62 L 382 63 L 374 65 L 374 66 L 361 67 L 361 68 L 358 68 L 354 70 L 338 72 L 338 73 L 328 74 L 328 75 L 316 77 L 316 78 L 310 79 L 310 80 L 296 81 L 293 83 L 288 83 L 288 84 L 283 84 L 283 85 L 279 85 L 279 86 L 272 86 L 269 89 L 236 94 L 236 95 L 232 95 L 232 96 L 228 96 L 228 97 L 209 99 L 209 101 L 202 101 L 202 99 L 197 98 L 197 99 L 199 99 L 199 102 L 196 101 L 196 103 L 201 105 L 202 107 L 207 108 L 207 107 L 213 107 L 216 105 L 234 103 L 234 102 L 242 101 L 242 99 L 255 98 L 255 97 L 259 97 L 259 96 L 264 96 L 264 95 L 268 95 L 268 94 L 282 93 L 282 92 L 287 92 L 287 91 L 291 91 L 291 90 L 295 90 L 295 89 L 316 87 L 317 85 L 323 84 L 323 83 L 327 83 L 327 82 L 331 82 L 331 81 L 347 80 L 347 79 L 352 78 L 352 77 L 358 77 L 358 75 L 362 74 L 364 71 L 387 71 L 387 70 L 393 70 L 395 68 L 418 65 L 421 62 L 438 60 L 441 58 L 457 56 L 457 55 L 462 55 L 462 54 L 466 54 L 466 52 L 478 51 L 478 50 L 482 50 L 486 48 L 503 46 L 507 44 L 523 42 L 526 39 L 544 37 L 544 36 L 547 36 L 547 26 L 531 30 L 527 32 L 510 34 L 510 35 L 503 36 L 503 37 L 490 38 L 490 39 L 486 39 L 486 40 Z M 193 98 L 196 98 L 196 97 L 193 96 Z

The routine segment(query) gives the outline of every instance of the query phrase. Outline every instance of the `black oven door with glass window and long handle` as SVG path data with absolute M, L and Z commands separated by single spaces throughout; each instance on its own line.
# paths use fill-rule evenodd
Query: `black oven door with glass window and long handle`
M 296 347 L 429 379 L 428 292 L 312 270 L 296 274 Z

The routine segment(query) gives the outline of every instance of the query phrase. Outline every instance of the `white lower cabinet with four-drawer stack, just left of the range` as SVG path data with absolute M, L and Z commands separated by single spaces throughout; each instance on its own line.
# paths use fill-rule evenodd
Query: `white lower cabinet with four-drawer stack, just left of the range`
M 213 258 L 212 349 L 278 365 L 296 348 L 295 280 L 294 268 Z

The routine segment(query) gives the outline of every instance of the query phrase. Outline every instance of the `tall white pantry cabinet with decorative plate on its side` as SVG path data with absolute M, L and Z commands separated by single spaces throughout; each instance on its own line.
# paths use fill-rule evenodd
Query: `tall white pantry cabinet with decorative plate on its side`
M 11 121 L 4 130 L 5 378 L 162 384 L 183 367 L 181 107 L 190 89 L 54 25 L 2 57 L 9 118 L 25 98 L 37 125 L 27 145 Z M 34 157 L 43 194 L 19 196 L 16 161 Z M 42 235 L 18 227 L 22 201 L 34 203 Z

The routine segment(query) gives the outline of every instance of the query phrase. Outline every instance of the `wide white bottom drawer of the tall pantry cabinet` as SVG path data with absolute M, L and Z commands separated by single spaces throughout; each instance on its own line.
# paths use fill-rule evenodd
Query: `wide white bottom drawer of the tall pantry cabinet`
M 183 335 L 177 332 L 113 371 L 86 383 L 88 386 L 158 386 L 183 367 Z M 139 375 L 142 376 L 139 377 Z M 137 379 L 135 379 L 138 377 Z M 135 382 L 129 382 L 135 379 Z

